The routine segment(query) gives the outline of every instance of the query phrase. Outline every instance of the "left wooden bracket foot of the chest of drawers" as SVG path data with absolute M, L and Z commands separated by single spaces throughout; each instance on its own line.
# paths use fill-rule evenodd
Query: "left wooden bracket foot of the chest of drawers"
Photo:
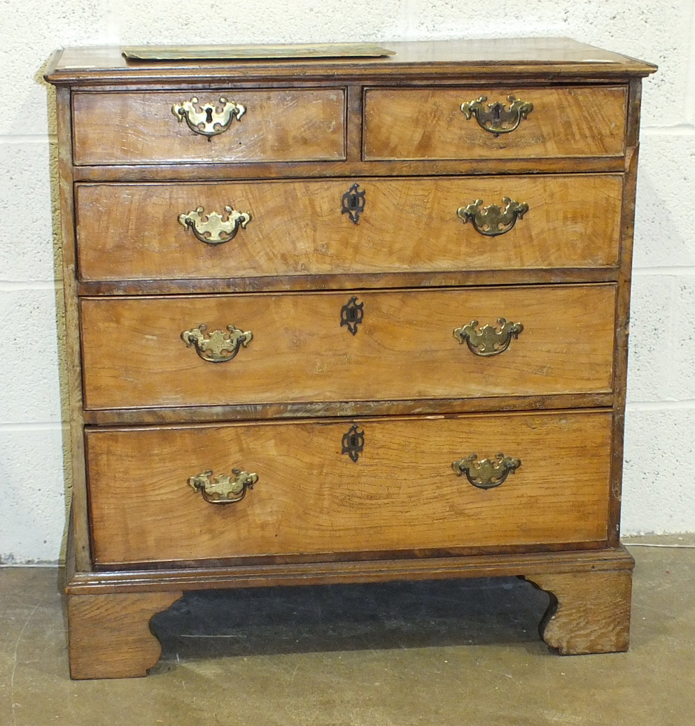
M 182 595 L 181 591 L 68 595 L 70 677 L 146 676 L 161 654 L 150 618 Z

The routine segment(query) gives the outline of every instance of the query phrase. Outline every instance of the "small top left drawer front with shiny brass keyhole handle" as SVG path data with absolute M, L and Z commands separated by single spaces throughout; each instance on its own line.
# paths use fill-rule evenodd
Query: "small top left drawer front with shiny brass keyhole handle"
M 208 103 L 220 108 L 219 99 L 225 97 L 243 106 L 244 113 L 238 120 L 230 116 L 228 128 L 220 134 L 196 133 L 172 111 L 194 96 L 199 97 L 198 110 Z M 344 159 L 345 93 L 344 89 L 76 93 L 73 155 L 77 165 Z

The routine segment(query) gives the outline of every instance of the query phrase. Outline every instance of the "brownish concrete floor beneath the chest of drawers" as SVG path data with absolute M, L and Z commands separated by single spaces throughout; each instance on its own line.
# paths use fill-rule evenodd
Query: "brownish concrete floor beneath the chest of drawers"
M 629 653 L 551 653 L 516 578 L 239 590 L 156 616 L 149 677 L 80 682 L 58 571 L 0 569 L 0 726 L 692 726 L 695 548 L 631 551 Z

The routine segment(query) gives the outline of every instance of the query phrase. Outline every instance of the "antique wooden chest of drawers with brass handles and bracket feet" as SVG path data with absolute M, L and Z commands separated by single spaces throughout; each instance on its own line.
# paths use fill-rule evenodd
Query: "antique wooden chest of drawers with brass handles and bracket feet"
M 57 86 L 73 677 L 185 590 L 524 576 L 627 648 L 641 78 L 572 41 L 134 62 Z

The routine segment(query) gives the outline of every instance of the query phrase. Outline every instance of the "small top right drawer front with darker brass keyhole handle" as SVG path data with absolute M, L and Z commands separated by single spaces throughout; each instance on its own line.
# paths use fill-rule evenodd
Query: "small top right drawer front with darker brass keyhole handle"
M 511 112 L 512 95 L 533 105 L 513 131 L 482 128 L 463 103 L 487 97 Z M 624 87 L 367 89 L 365 159 L 516 159 L 622 156 Z M 485 118 L 482 119 L 486 123 Z M 513 120 L 494 128 L 509 129 Z

